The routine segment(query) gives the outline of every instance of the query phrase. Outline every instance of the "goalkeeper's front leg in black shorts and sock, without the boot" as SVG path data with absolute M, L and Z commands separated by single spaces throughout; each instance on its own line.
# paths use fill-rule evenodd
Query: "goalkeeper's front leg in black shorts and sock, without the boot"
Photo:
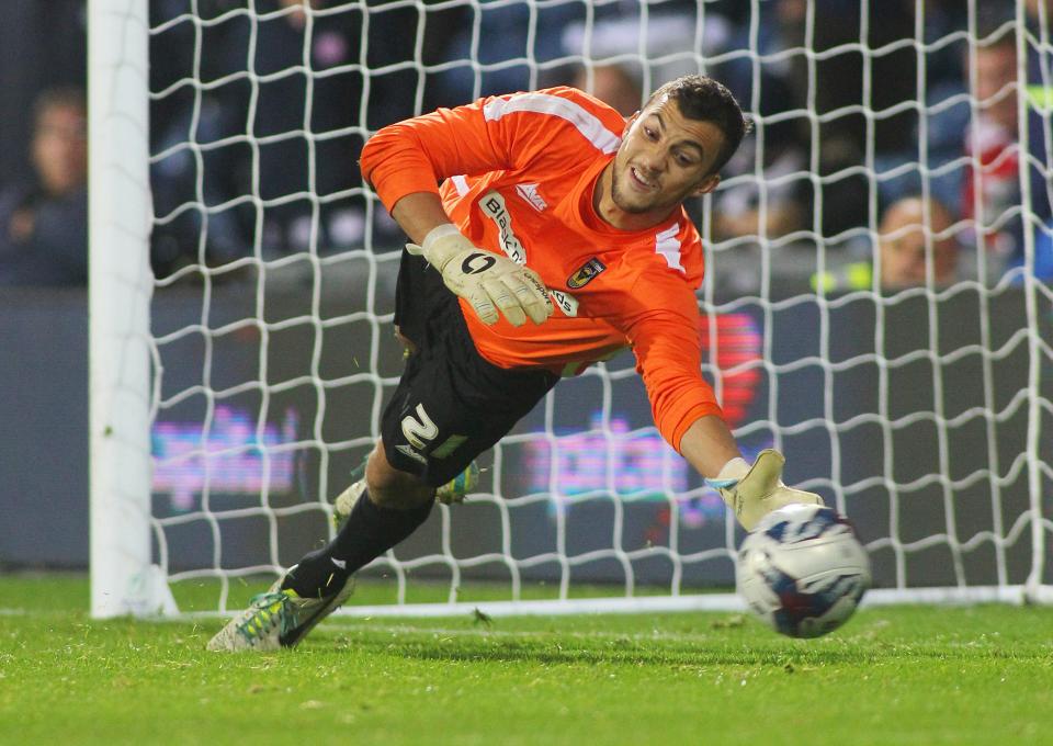
M 483 360 L 460 310 L 434 342 L 407 361 L 339 534 L 291 568 L 284 588 L 303 598 L 339 592 L 353 573 L 423 523 L 435 488 L 464 473 L 556 381 L 547 371 L 509 371 Z

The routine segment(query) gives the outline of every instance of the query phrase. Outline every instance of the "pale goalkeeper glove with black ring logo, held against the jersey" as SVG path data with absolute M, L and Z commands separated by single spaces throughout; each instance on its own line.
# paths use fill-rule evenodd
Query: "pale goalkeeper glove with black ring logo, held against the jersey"
M 439 270 L 446 287 L 471 303 L 484 324 L 496 324 L 498 310 L 512 326 L 522 326 L 528 316 L 541 324 L 552 315 L 552 301 L 536 272 L 476 248 L 453 224 L 433 228 L 422 246 L 407 244 L 406 249 Z

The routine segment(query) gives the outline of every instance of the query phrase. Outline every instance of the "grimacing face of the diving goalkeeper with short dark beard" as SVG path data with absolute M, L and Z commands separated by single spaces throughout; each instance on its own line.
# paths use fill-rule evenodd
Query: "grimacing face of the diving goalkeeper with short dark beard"
M 664 219 L 689 196 L 716 189 L 710 173 L 724 135 L 712 122 L 689 120 L 668 98 L 630 120 L 614 157 L 611 200 L 633 215 Z

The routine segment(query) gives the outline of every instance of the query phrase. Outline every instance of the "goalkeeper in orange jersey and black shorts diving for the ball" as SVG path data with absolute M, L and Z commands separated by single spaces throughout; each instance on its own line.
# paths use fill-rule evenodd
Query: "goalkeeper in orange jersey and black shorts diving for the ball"
M 749 128 L 700 76 L 627 122 L 571 88 L 483 99 L 381 129 L 362 173 L 414 244 L 395 323 L 411 353 L 347 522 L 224 628 L 212 649 L 297 644 L 360 567 L 412 533 L 561 376 L 633 349 L 663 437 L 750 529 L 788 502 L 782 456 L 746 463 L 701 375 L 702 244 L 684 200 L 712 192 Z M 441 189 L 437 183 L 442 181 Z

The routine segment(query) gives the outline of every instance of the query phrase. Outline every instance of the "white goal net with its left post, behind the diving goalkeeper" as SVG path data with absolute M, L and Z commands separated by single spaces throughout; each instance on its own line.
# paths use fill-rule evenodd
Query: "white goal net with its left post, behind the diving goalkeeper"
M 93 613 L 228 612 L 333 535 L 403 364 L 373 132 L 687 72 L 756 121 L 689 205 L 744 455 L 854 522 L 871 602 L 1049 600 L 1053 9 L 851 4 L 93 0 Z M 740 608 L 741 531 L 629 353 L 479 465 L 348 612 Z

